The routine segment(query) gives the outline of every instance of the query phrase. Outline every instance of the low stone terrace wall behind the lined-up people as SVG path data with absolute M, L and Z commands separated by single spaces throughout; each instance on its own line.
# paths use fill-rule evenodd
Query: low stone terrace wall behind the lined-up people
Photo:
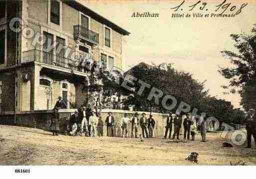
M 70 116 L 74 113 L 75 109 L 62 109 L 59 110 L 59 127 L 60 132 L 64 132 L 64 125 L 67 124 Z M 124 113 L 128 113 L 128 117 L 132 117 L 131 111 L 124 110 L 103 110 L 101 112 L 102 119 L 105 121 L 107 117 L 107 113 L 111 111 L 115 118 L 115 136 L 121 136 L 121 126 L 120 119 L 124 117 Z M 16 113 L 16 123 L 14 122 L 14 114 L 13 112 L 4 112 L 0 114 L 0 124 L 2 125 L 16 125 L 16 126 L 24 126 L 30 128 L 37 128 L 42 130 L 48 130 L 48 120 L 50 119 L 52 111 L 51 110 L 40 110 L 40 111 L 24 111 Z M 138 112 L 139 115 L 143 112 Z M 146 117 L 149 118 L 149 113 L 146 113 Z M 165 132 L 166 125 L 166 117 L 167 114 L 161 113 L 152 113 L 153 118 L 156 121 L 155 133 L 156 136 L 163 136 Z M 139 127 L 139 134 L 141 133 L 141 128 Z M 128 134 L 131 136 L 131 123 L 128 125 Z M 107 134 L 106 126 L 104 126 L 104 136 Z

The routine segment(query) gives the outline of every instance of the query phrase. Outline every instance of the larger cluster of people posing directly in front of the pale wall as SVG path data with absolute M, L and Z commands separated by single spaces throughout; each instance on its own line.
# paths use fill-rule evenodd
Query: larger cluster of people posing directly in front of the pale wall
M 66 134 L 75 136 L 103 136 L 104 126 L 107 128 L 107 136 L 115 137 L 115 118 L 112 112 L 108 112 L 108 116 L 105 121 L 102 120 L 101 114 L 97 114 L 90 110 L 90 108 L 81 108 L 71 115 L 69 123 L 65 129 Z M 132 118 L 128 118 L 128 114 L 124 114 L 124 117 L 120 119 L 121 137 L 128 137 L 128 124 L 131 123 L 131 137 L 139 138 L 138 126 L 142 129 L 143 138 L 152 138 L 155 135 L 154 127 L 155 120 L 150 115 L 149 119 L 146 118 L 146 114 L 143 113 L 139 118 L 138 113 L 135 113 Z M 135 136 L 134 136 L 135 132 Z

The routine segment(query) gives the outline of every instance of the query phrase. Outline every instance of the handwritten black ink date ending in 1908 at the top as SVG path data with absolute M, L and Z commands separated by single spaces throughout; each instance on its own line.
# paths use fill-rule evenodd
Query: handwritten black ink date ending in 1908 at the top
M 185 0 L 183 0 L 183 2 L 176 6 L 176 7 L 172 7 L 171 9 L 175 9 L 174 11 L 177 10 L 183 10 L 183 6 L 185 4 Z M 240 7 L 237 7 L 236 5 L 232 5 L 232 3 L 228 3 L 227 0 L 224 0 L 222 3 L 220 3 L 219 5 L 216 5 L 216 12 L 221 12 L 220 14 L 223 14 L 224 12 L 226 12 L 227 10 L 229 11 L 234 11 L 237 14 L 240 14 L 242 12 L 242 9 L 245 8 L 248 5 L 248 3 L 243 3 L 241 4 Z M 189 10 L 194 10 L 194 9 L 200 9 L 200 10 L 208 10 L 207 8 L 207 2 L 202 2 L 201 0 L 197 1 L 197 3 L 189 5 Z

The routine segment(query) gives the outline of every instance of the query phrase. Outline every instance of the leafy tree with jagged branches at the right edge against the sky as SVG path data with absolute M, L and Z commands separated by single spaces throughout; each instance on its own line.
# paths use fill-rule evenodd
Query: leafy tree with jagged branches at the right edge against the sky
M 240 93 L 241 105 L 246 110 L 256 107 L 256 28 L 252 34 L 231 34 L 238 52 L 230 50 L 222 51 L 225 57 L 234 65 L 233 67 L 221 67 L 219 72 L 230 80 L 228 88 L 232 93 Z M 224 88 L 227 88 L 224 86 Z

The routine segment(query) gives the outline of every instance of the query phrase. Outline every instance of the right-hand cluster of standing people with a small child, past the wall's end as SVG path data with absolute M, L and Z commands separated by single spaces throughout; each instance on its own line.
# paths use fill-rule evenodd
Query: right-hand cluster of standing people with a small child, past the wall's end
M 202 142 L 206 142 L 206 124 L 205 124 L 205 116 L 203 115 L 201 122 L 199 125 L 197 125 L 196 119 L 192 116 L 191 113 L 187 114 L 180 114 L 180 113 L 169 113 L 169 116 L 166 119 L 166 126 L 165 126 L 165 135 L 164 139 L 167 138 L 168 132 L 169 132 L 169 139 L 175 139 L 177 137 L 177 140 L 179 140 L 180 135 L 180 129 L 182 127 L 182 121 L 183 121 L 183 128 L 184 128 L 184 134 L 183 138 L 184 140 L 191 140 L 195 141 L 195 135 L 197 132 L 197 129 L 200 129 Z M 172 129 L 174 127 L 174 132 L 172 136 Z

